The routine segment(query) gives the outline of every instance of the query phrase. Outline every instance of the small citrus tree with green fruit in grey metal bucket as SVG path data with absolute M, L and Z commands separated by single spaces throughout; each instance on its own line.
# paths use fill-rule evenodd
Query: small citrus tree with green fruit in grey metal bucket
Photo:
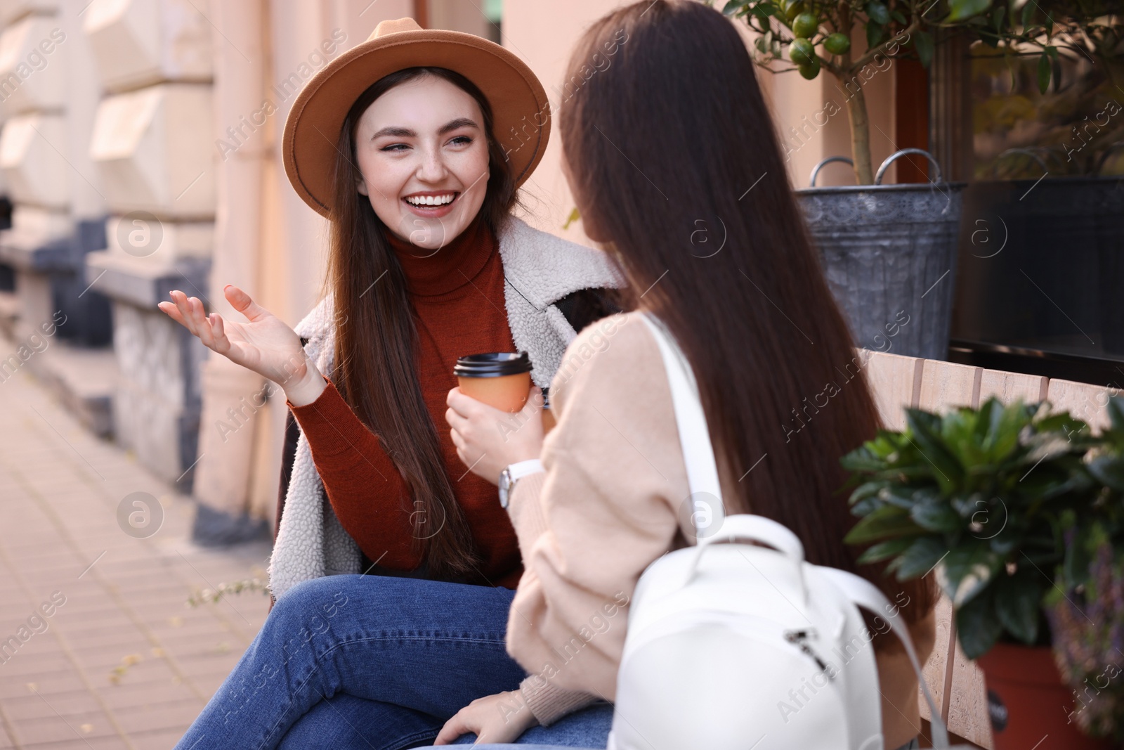
M 851 154 L 850 159 L 825 160 L 816 171 L 827 161 L 850 161 L 856 184 L 815 188 L 814 171 L 813 187 L 798 195 L 828 282 L 861 346 L 869 347 L 885 336 L 886 326 L 904 311 L 915 323 L 897 338 L 896 351 L 946 356 L 966 187 L 944 182 L 940 169 L 931 170 L 932 184 L 880 184 L 890 161 L 904 153 L 933 160 L 925 152 L 905 150 L 874 171 L 865 83 L 892 74 L 889 70 L 897 60 L 914 58 L 928 67 L 936 33 L 946 30 L 967 34 L 1007 58 L 1036 49 L 1040 81 L 1049 84 L 1057 74 L 1059 49 L 1071 37 L 1096 27 L 1096 38 L 1105 38 L 1105 25 L 1096 20 L 1104 4 L 1102 0 L 725 2 L 725 13 L 743 19 L 755 31 L 752 53 L 760 65 L 777 74 L 815 79 L 824 72 L 836 79 L 837 93 L 827 93 L 824 109 L 808 117 L 822 127 L 845 109 Z M 945 283 L 937 286 L 942 280 Z

